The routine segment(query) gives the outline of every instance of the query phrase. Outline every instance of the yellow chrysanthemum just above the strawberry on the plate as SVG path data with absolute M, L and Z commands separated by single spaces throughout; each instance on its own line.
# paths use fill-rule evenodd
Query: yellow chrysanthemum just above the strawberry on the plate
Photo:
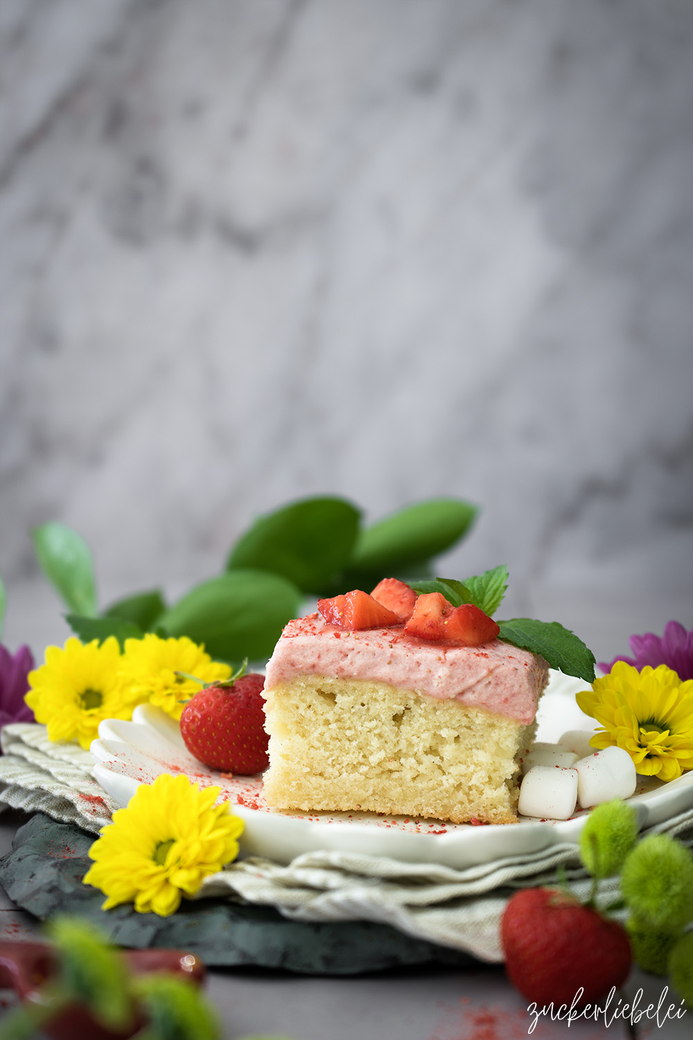
M 199 691 L 199 683 L 177 672 L 187 672 L 203 682 L 228 679 L 228 665 L 212 660 L 205 648 L 187 635 L 162 640 L 148 632 L 141 640 L 126 640 L 122 674 L 137 704 L 149 701 L 180 719 L 185 701 Z

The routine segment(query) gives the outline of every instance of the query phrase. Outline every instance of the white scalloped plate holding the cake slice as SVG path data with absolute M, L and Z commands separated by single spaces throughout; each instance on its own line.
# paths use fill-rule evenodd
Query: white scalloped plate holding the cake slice
M 538 712 L 538 739 L 555 742 L 568 729 L 592 730 L 594 720 L 575 702 L 575 694 L 585 685 L 560 672 L 551 673 Z M 242 855 L 267 856 L 282 863 L 304 852 L 334 849 L 461 868 L 576 842 L 587 815 L 581 811 L 566 821 L 521 816 L 518 824 L 473 827 L 371 812 L 309 814 L 269 809 L 261 776 L 229 778 L 203 765 L 186 750 L 178 723 L 146 704 L 135 709 L 132 722 L 102 722 L 91 753 L 99 783 L 119 805 L 128 804 L 140 783 L 152 783 L 162 773 L 183 773 L 202 787 L 217 784 L 220 799 L 235 803 L 234 811 L 245 822 Z M 631 802 L 638 808 L 641 827 L 693 807 L 693 771 L 667 784 L 644 777 L 638 780 Z

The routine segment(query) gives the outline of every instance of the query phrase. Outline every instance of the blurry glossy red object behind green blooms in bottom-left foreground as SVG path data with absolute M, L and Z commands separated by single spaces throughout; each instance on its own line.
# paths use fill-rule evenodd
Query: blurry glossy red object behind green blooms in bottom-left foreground
M 181 950 L 124 950 L 121 953 L 133 974 L 150 971 L 171 971 L 202 985 L 205 965 L 194 954 Z M 53 948 L 47 942 L 0 942 L 0 989 L 14 989 L 24 1002 L 35 1002 L 37 990 L 55 968 Z M 122 1033 L 99 1025 L 77 1005 L 65 1008 L 45 1025 L 43 1032 L 53 1040 L 126 1040 L 144 1024 L 135 1020 Z

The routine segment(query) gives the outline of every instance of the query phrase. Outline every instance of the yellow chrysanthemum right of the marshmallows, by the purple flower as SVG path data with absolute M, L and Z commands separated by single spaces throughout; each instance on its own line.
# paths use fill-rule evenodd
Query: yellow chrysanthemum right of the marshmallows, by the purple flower
M 604 727 L 591 738 L 593 748 L 616 745 L 638 773 L 660 780 L 693 769 L 693 679 L 682 682 L 666 665 L 638 672 L 619 660 L 576 699 Z

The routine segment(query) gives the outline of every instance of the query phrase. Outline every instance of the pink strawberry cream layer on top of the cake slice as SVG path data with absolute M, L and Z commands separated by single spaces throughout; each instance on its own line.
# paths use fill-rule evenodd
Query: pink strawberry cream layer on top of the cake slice
M 478 647 L 443 646 L 406 635 L 399 625 L 351 632 L 310 614 L 284 629 L 267 662 L 265 688 L 301 674 L 389 682 L 529 725 L 549 666 L 500 640 Z

